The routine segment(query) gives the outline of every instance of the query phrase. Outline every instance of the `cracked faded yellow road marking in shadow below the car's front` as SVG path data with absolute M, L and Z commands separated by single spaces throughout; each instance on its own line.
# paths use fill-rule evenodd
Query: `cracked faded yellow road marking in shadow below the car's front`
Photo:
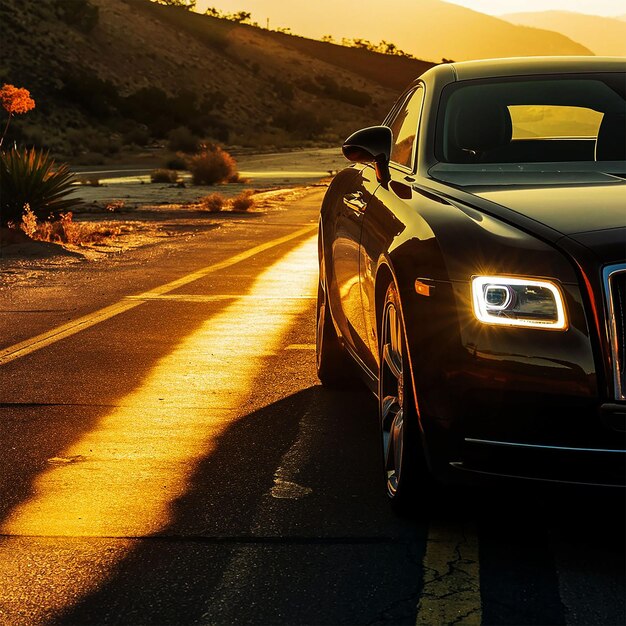
M 424 555 L 424 588 L 416 626 L 482 622 L 478 538 L 470 526 L 434 524 Z

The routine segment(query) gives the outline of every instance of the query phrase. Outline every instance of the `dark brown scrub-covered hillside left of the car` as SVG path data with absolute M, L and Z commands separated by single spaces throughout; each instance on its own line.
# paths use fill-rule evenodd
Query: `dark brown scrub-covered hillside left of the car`
M 336 145 L 432 64 L 149 0 L 2 0 L 0 82 L 37 108 L 11 139 L 84 162 L 174 131 L 230 145 Z M 182 130 L 181 130 L 182 127 Z

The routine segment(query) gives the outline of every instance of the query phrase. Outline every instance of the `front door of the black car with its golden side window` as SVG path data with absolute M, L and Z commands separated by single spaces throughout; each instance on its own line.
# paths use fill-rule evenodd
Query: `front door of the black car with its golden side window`
M 363 332 L 367 351 L 363 358 L 372 373 L 378 372 L 378 339 L 376 329 L 375 278 L 381 256 L 391 242 L 405 229 L 405 215 L 410 211 L 416 168 L 417 140 L 424 88 L 418 85 L 400 100 L 387 124 L 393 145 L 389 170 L 391 180 L 380 185 L 367 207 L 359 247 L 359 283 L 363 308 Z

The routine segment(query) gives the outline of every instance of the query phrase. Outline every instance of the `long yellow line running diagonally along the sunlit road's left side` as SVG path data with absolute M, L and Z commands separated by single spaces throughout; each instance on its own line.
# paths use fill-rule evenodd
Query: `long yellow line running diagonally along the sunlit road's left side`
M 231 265 L 245 261 L 250 257 L 260 254 L 261 252 L 265 252 L 266 250 L 280 246 L 283 243 L 287 243 L 292 239 L 297 239 L 298 237 L 310 233 L 315 228 L 317 228 L 317 226 L 306 226 L 304 228 L 300 228 L 292 233 L 289 233 L 288 235 L 272 239 L 271 241 L 267 241 L 263 244 L 255 246 L 254 248 L 250 248 L 249 250 L 236 254 L 235 256 L 225 259 L 224 261 L 208 265 L 197 272 L 192 272 L 191 274 L 187 274 L 186 276 L 173 280 L 169 283 L 155 287 L 154 289 L 139 294 L 132 299 L 125 298 L 121 302 L 104 307 L 103 309 L 99 309 L 98 311 L 94 311 L 93 313 L 89 313 L 88 315 L 72 320 L 67 324 L 57 326 L 56 328 L 46 331 L 45 333 L 41 333 L 40 335 L 36 335 L 35 337 L 31 337 L 30 339 L 26 339 L 20 343 L 16 343 L 8 348 L 4 348 L 3 350 L 0 350 L 0 365 L 4 365 L 14 361 L 15 359 L 26 356 L 27 354 L 31 354 L 36 350 L 56 343 L 61 339 L 75 335 L 86 328 L 90 328 L 91 326 L 104 322 L 116 315 L 119 315 L 120 313 L 129 311 L 151 298 L 162 296 L 170 291 L 178 289 L 179 287 L 183 287 L 184 285 L 188 285 L 189 283 L 199 280 L 200 278 L 204 278 L 208 274 L 218 272 L 219 270 L 230 267 Z

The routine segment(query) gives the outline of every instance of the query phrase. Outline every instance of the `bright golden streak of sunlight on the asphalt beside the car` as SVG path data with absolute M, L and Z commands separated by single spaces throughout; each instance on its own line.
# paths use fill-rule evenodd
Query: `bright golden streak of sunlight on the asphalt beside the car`
M 77 589 L 94 591 L 132 551 L 131 538 L 163 531 L 173 521 L 173 504 L 197 464 L 242 417 L 264 359 L 284 349 L 285 332 L 314 297 L 316 250 L 310 238 L 269 267 L 246 295 L 234 296 L 182 339 L 94 430 L 48 459 L 30 500 L 0 529 L 0 570 L 11 573 L 13 587 L 0 594 L 5 610 L 19 615 L 26 608 L 29 623 L 45 623 L 80 600 L 63 589 L 80 581 Z M 197 306 L 193 297 L 189 302 Z M 70 563 L 63 551 L 45 558 L 33 553 L 21 567 L 16 554 L 29 537 L 85 540 Z M 88 540 L 94 537 L 117 540 L 111 548 Z M 54 589 L 46 587 L 50 570 Z M 46 606 L 24 607 L 25 598 L 38 594 L 45 594 Z

